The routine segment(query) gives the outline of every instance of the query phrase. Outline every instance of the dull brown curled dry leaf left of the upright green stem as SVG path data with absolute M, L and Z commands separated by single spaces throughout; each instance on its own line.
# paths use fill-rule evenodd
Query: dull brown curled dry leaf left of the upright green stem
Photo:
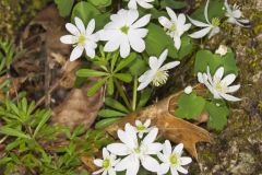
M 103 89 L 95 95 L 87 96 L 87 89 L 97 79 L 88 79 L 82 89 L 73 89 L 64 101 L 53 108 L 52 122 L 63 124 L 70 129 L 82 124 L 87 129 L 95 121 L 99 108 L 103 106 Z

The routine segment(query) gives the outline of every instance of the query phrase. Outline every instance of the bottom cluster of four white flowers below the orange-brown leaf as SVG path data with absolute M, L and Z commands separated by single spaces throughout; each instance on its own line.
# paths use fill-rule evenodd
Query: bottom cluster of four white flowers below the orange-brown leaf
M 181 155 L 183 144 L 180 143 L 172 150 L 168 140 L 164 144 L 155 142 L 158 129 L 148 128 L 150 124 L 148 119 L 144 124 L 136 120 L 135 127 L 126 124 L 124 130 L 119 129 L 121 143 L 111 143 L 103 149 L 103 160 L 94 161 L 100 170 L 93 174 L 114 175 L 126 171 L 127 175 L 136 175 L 140 166 L 158 175 L 164 175 L 169 170 L 172 175 L 178 172 L 187 174 L 188 171 L 182 166 L 191 163 L 192 159 Z

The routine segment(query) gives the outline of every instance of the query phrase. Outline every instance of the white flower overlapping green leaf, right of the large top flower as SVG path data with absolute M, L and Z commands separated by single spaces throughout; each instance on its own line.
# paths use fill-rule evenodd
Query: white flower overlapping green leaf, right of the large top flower
M 167 35 L 174 39 L 175 47 L 179 50 L 181 46 L 180 37 L 191 27 L 191 24 L 186 24 L 184 14 L 180 13 L 177 16 L 177 14 L 170 8 L 166 8 L 166 10 L 171 20 L 168 20 L 166 16 L 160 16 L 158 21 L 164 26 Z

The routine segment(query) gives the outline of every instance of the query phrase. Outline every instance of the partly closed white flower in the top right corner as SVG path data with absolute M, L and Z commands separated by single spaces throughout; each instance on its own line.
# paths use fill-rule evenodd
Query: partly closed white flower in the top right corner
M 249 26 L 246 25 L 249 23 L 249 20 L 242 19 L 242 12 L 239 10 L 239 7 L 237 4 L 234 4 L 233 7 L 228 4 L 227 0 L 225 0 L 225 7 L 226 7 L 226 16 L 227 22 L 231 24 L 237 24 L 239 26 Z

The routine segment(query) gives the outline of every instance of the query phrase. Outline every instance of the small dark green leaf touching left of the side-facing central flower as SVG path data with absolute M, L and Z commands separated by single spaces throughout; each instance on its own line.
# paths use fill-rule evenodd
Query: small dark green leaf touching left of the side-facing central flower
M 147 70 L 147 62 L 141 57 L 138 57 L 135 60 L 133 60 L 133 62 L 131 62 L 129 67 L 130 73 L 136 77 L 140 77 L 146 70 Z

